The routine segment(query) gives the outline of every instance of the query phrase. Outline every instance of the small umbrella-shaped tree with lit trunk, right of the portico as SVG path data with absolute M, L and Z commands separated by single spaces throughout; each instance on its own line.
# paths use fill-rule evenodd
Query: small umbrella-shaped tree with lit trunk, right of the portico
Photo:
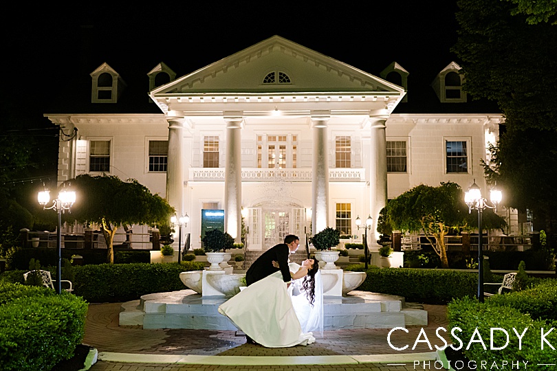
M 475 214 L 477 215 L 477 214 Z M 503 227 L 505 221 L 492 212 L 486 213 L 485 227 Z M 469 214 L 464 193 L 457 183 L 441 183 L 432 187 L 419 185 L 389 201 L 381 211 L 378 229 L 390 224 L 402 232 L 423 232 L 439 258 L 441 266 L 448 268 L 445 236 L 450 229 L 471 229 L 477 218 Z

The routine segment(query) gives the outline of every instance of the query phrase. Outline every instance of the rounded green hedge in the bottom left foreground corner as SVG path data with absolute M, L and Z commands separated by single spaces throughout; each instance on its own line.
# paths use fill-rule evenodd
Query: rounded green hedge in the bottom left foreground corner
M 83 340 L 87 303 L 69 293 L 0 283 L 1 370 L 50 370 Z

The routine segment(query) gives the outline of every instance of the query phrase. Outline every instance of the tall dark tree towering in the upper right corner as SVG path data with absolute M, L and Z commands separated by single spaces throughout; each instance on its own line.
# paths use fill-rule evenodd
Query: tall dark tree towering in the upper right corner
M 464 89 L 496 101 L 505 116 L 507 133 L 492 148 L 488 179 L 505 189 L 504 205 L 545 218 L 540 227 L 548 229 L 549 243 L 557 193 L 557 142 L 551 139 L 557 137 L 557 26 L 545 20 L 554 16 L 554 4 L 459 0 L 453 48 L 462 60 Z

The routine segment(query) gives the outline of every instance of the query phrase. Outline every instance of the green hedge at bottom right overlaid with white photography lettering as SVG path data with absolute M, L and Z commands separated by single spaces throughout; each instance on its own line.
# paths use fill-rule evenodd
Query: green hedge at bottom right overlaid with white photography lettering
M 507 296 L 507 295 L 503 295 Z M 510 296 L 510 295 L 508 295 Z M 462 333 L 457 333 L 459 339 L 463 342 L 462 351 L 468 359 L 475 361 L 479 370 L 481 361 L 487 361 L 488 368 L 495 363 L 498 368 L 502 366 L 502 361 L 522 361 L 528 362 L 528 368 L 535 370 L 546 370 L 544 366 L 536 366 L 538 364 L 555 363 L 556 352 L 551 350 L 547 344 L 544 344 L 544 350 L 541 350 L 541 330 L 547 333 L 551 327 L 557 325 L 556 322 L 547 322 L 545 319 L 532 319 L 530 315 L 521 313 L 510 306 L 501 306 L 487 300 L 485 303 L 479 303 L 477 300 L 468 297 L 456 300 L 448 306 L 449 329 L 461 328 Z M 491 328 L 503 328 L 509 334 L 509 344 L 501 350 L 490 349 L 490 330 Z M 518 337 L 514 334 L 512 328 L 516 328 L 519 334 L 527 328 L 522 338 L 522 348 L 519 350 Z M 483 339 L 486 349 L 478 343 L 470 344 L 470 348 L 466 350 L 474 330 L 478 331 Z M 478 340 L 478 336 L 473 337 Z M 557 344 L 557 333 L 551 331 L 547 337 L 547 341 L 551 344 Z M 494 347 L 503 347 L 506 342 L 506 336 L 501 330 L 494 331 Z M 453 341 L 458 346 L 456 339 Z M 549 370 L 549 366 L 547 370 Z M 510 368 L 510 363 L 509 363 Z

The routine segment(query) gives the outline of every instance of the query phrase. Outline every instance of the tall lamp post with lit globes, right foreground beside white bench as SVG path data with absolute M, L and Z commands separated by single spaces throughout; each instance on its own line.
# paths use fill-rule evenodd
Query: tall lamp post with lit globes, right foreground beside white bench
M 473 210 L 478 210 L 478 300 L 483 303 L 483 241 L 482 241 L 482 225 L 481 218 L 483 210 L 486 208 L 494 209 L 497 204 L 501 202 L 503 194 L 500 190 L 492 189 L 490 190 L 490 200 L 492 205 L 488 205 L 488 200 L 481 196 L 481 190 L 476 184 L 476 179 L 468 192 L 464 194 L 464 202 L 468 205 L 468 212 L 471 213 Z

